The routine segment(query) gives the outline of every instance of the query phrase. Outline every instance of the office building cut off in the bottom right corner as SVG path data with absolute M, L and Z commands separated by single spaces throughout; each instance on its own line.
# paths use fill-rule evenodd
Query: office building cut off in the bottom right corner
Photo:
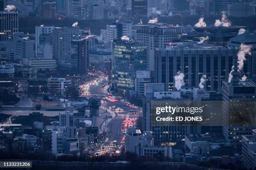
M 242 162 L 246 169 L 256 168 L 256 129 L 252 135 L 242 136 Z

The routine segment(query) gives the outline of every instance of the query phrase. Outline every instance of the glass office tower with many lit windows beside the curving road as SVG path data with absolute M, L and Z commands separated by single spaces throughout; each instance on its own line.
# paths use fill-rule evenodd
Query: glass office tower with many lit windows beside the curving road
M 146 70 L 147 46 L 128 41 L 113 41 L 112 85 L 115 92 L 135 90 L 136 71 Z

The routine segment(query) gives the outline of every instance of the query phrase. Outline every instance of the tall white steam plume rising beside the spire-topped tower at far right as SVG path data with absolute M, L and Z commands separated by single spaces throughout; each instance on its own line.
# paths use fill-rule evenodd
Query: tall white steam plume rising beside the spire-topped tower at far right
M 240 50 L 237 53 L 239 71 L 243 69 L 243 62 L 246 60 L 245 56 L 251 55 L 251 49 L 252 49 L 251 45 L 243 45 L 243 44 L 240 45 Z M 230 82 L 232 79 L 231 73 L 233 72 L 233 67 L 234 66 L 232 66 L 232 70 L 229 73 L 228 82 Z

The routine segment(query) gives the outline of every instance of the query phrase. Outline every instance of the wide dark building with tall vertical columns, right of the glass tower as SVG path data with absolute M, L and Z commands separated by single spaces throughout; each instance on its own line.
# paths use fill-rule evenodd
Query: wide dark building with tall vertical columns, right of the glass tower
M 233 56 L 237 52 L 236 49 L 189 43 L 174 43 L 166 49 L 156 49 L 154 82 L 164 83 L 166 91 L 175 90 L 174 76 L 180 71 L 185 75 L 185 85 L 198 86 L 202 75 L 207 75 L 205 89 L 217 90 L 221 88 L 223 80 L 228 80 Z M 250 79 L 253 75 L 253 57 L 246 58 L 243 73 Z

